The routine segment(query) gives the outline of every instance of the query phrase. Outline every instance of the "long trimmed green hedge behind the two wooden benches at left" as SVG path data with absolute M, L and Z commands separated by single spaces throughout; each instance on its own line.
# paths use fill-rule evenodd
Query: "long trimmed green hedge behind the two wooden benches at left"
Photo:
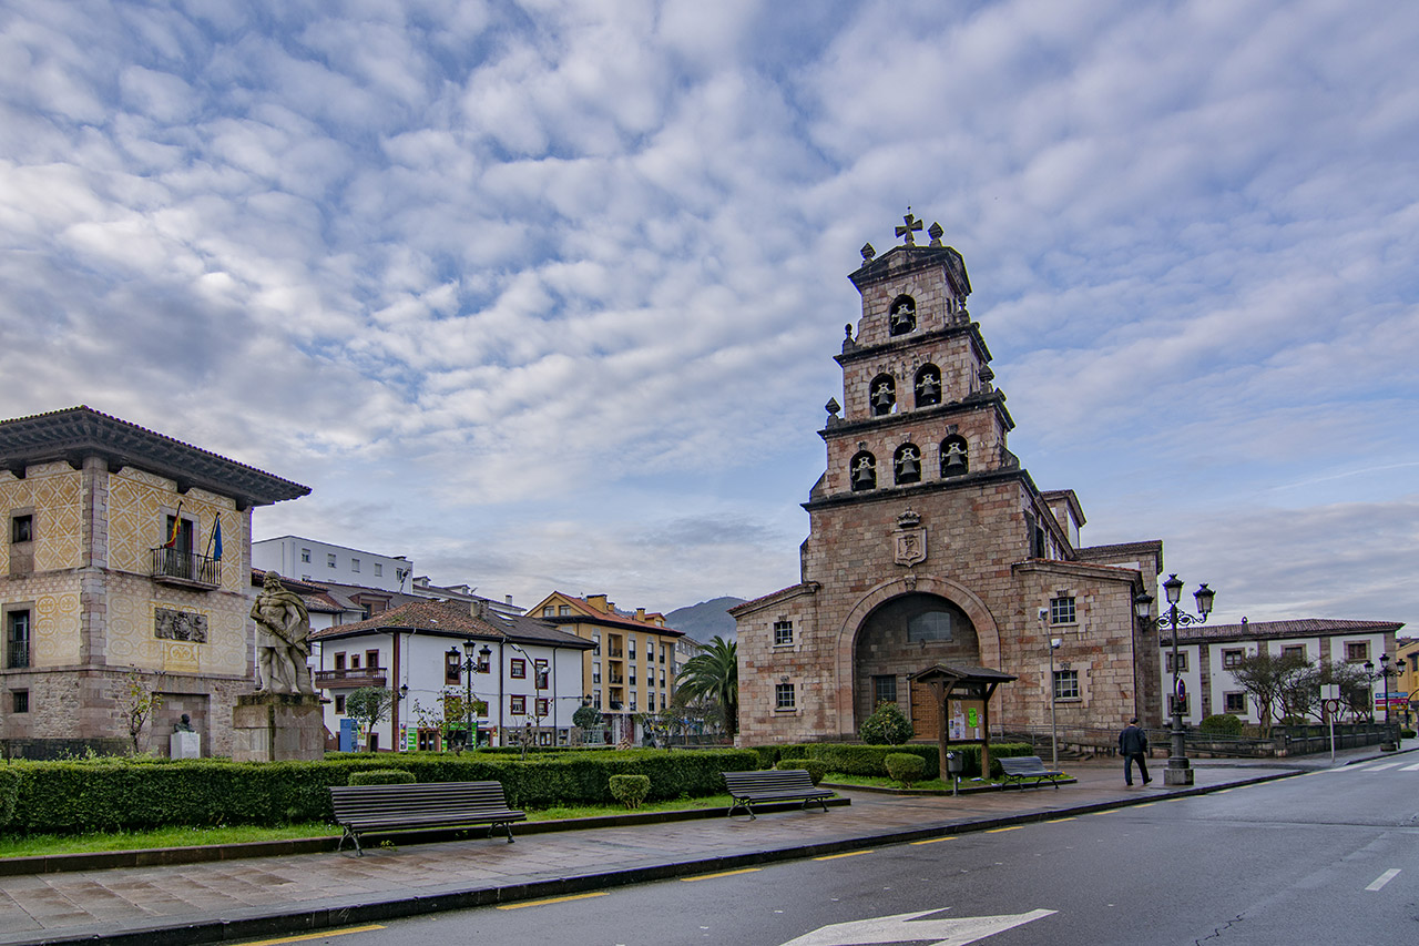
M 138 830 L 162 825 L 333 821 L 331 785 L 387 770 L 387 753 L 332 753 L 324 761 L 234 763 L 216 759 L 13 761 L 14 832 Z M 707 749 L 566 751 L 528 757 L 487 751 L 399 753 L 414 781 L 498 781 L 514 808 L 613 804 L 612 776 L 648 776 L 653 801 L 724 793 L 722 771 L 753 768 L 755 753 Z M 0 781 L 0 805 L 4 804 Z

